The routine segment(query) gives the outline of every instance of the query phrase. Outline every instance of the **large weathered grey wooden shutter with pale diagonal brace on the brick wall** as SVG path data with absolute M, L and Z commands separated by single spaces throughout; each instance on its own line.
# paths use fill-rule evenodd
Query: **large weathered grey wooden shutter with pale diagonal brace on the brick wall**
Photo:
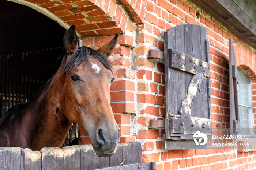
M 185 24 L 166 31 L 164 149 L 192 149 L 196 131 L 211 139 L 210 87 L 206 28 Z

